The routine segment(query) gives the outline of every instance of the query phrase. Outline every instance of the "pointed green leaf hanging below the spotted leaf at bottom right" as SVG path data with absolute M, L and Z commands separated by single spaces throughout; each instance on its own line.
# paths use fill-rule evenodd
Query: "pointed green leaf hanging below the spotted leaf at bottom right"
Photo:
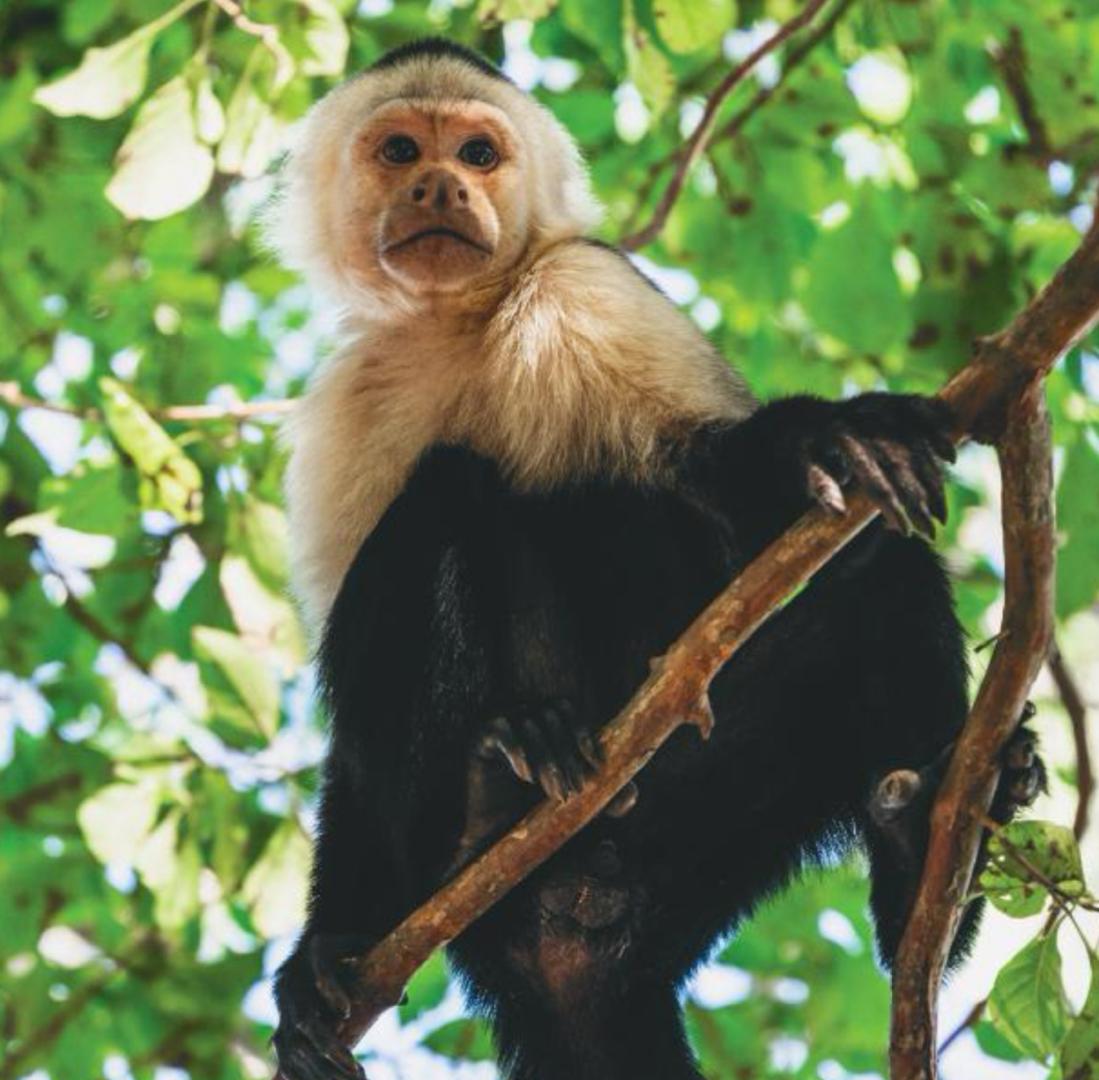
M 1035 1060 L 1057 1049 L 1068 1026 L 1068 1009 L 1056 934 L 1034 938 L 1003 966 L 988 998 L 988 1018 L 1012 1046 Z

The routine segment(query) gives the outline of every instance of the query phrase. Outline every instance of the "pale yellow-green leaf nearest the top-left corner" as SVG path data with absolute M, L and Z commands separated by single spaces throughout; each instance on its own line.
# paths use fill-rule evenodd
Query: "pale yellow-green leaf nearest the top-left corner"
M 107 48 L 89 48 L 75 71 L 40 87 L 34 100 L 55 116 L 116 116 L 145 89 L 152 44 L 142 26 Z

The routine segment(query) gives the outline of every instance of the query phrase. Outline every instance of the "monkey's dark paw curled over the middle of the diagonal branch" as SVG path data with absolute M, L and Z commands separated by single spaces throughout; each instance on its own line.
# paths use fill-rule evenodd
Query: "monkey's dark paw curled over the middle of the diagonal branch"
M 599 741 L 573 703 L 554 698 L 518 705 L 489 721 L 475 744 L 484 759 L 500 759 L 525 783 L 564 802 L 602 762 Z

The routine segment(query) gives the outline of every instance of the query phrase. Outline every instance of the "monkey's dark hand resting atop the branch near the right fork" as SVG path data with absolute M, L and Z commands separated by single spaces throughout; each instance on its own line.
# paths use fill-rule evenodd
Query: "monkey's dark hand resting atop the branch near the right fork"
M 864 393 L 834 404 L 804 447 L 809 493 L 843 513 L 843 489 L 855 483 L 890 528 L 931 536 L 932 519 L 946 520 L 941 463 L 956 457 L 950 431 L 950 409 L 935 398 Z

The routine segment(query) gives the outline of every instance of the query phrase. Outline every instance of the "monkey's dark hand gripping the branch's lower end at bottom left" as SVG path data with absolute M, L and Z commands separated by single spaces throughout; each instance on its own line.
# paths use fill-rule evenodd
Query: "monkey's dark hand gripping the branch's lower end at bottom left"
M 308 934 L 279 969 L 279 1024 L 271 1039 L 279 1080 L 366 1080 L 338 1028 L 353 994 L 343 961 L 360 955 L 367 944 L 358 935 Z

